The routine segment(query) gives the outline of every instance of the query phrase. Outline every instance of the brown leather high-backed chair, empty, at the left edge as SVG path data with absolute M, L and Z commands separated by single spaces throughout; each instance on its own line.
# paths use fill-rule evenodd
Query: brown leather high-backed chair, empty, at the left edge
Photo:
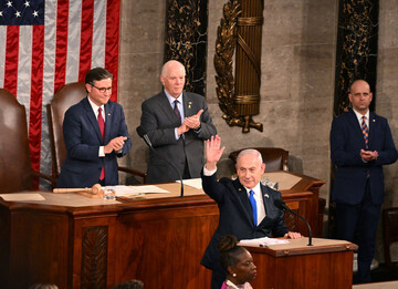
M 0 192 L 33 189 L 33 179 L 50 176 L 31 167 L 25 107 L 9 91 L 0 89 Z

